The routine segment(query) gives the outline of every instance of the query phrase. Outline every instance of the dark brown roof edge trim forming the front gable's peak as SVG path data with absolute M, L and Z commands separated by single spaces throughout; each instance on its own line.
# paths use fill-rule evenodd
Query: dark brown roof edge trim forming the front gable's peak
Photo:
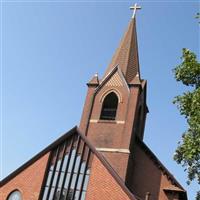
M 0 187 L 8 183 L 10 180 L 12 180 L 14 177 L 16 177 L 18 174 L 20 174 L 22 171 L 24 171 L 26 168 L 28 168 L 30 165 L 32 165 L 34 162 L 36 162 L 38 159 L 43 157 L 46 153 L 52 152 L 58 145 L 62 144 L 65 140 L 67 140 L 70 136 L 73 134 L 78 134 L 81 139 L 86 143 L 86 145 L 90 148 L 90 150 L 94 153 L 94 155 L 100 160 L 100 162 L 104 165 L 104 167 L 108 170 L 108 172 L 111 174 L 111 176 L 116 180 L 116 182 L 119 184 L 119 186 L 122 188 L 122 190 L 127 194 L 127 196 L 130 198 L 130 200 L 138 200 L 126 187 L 120 176 L 113 170 L 111 165 L 106 161 L 106 159 L 99 153 L 95 147 L 89 142 L 89 140 L 86 138 L 85 135 L 83 135 L 80 130 L 75 126 L 71 130 L 69 130 L 67 133 L 65 133 L 63 136 L 58 138 L 56 141 L 54 141 L 52 144 L 47 146 L 45 149 L 43 149 L 41 152 L 39 152 L 37 155 L 35 155 L 33 158 L 31 158 L 29 161 L 24 163 L 21 167 L 16 169 L 14 172 L 12 172 L 10 175 L 5 177 L 2 181 L 0 181 Z

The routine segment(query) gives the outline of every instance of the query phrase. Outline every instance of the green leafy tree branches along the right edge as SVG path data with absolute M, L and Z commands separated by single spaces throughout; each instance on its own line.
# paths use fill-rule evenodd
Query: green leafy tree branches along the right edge
M 196 180 L 200 184 L 200 63 L 196 55 L 183 49 L 182 63 L 174 69 L 175 79 L 188 86 L 188 91 L 176 96 L 174 103 L 188 124 L 178 143 L 174 159 L 182 164 L 188 174 L 188 184 Z M 200 191 L 197 192 L 200 200 Z

